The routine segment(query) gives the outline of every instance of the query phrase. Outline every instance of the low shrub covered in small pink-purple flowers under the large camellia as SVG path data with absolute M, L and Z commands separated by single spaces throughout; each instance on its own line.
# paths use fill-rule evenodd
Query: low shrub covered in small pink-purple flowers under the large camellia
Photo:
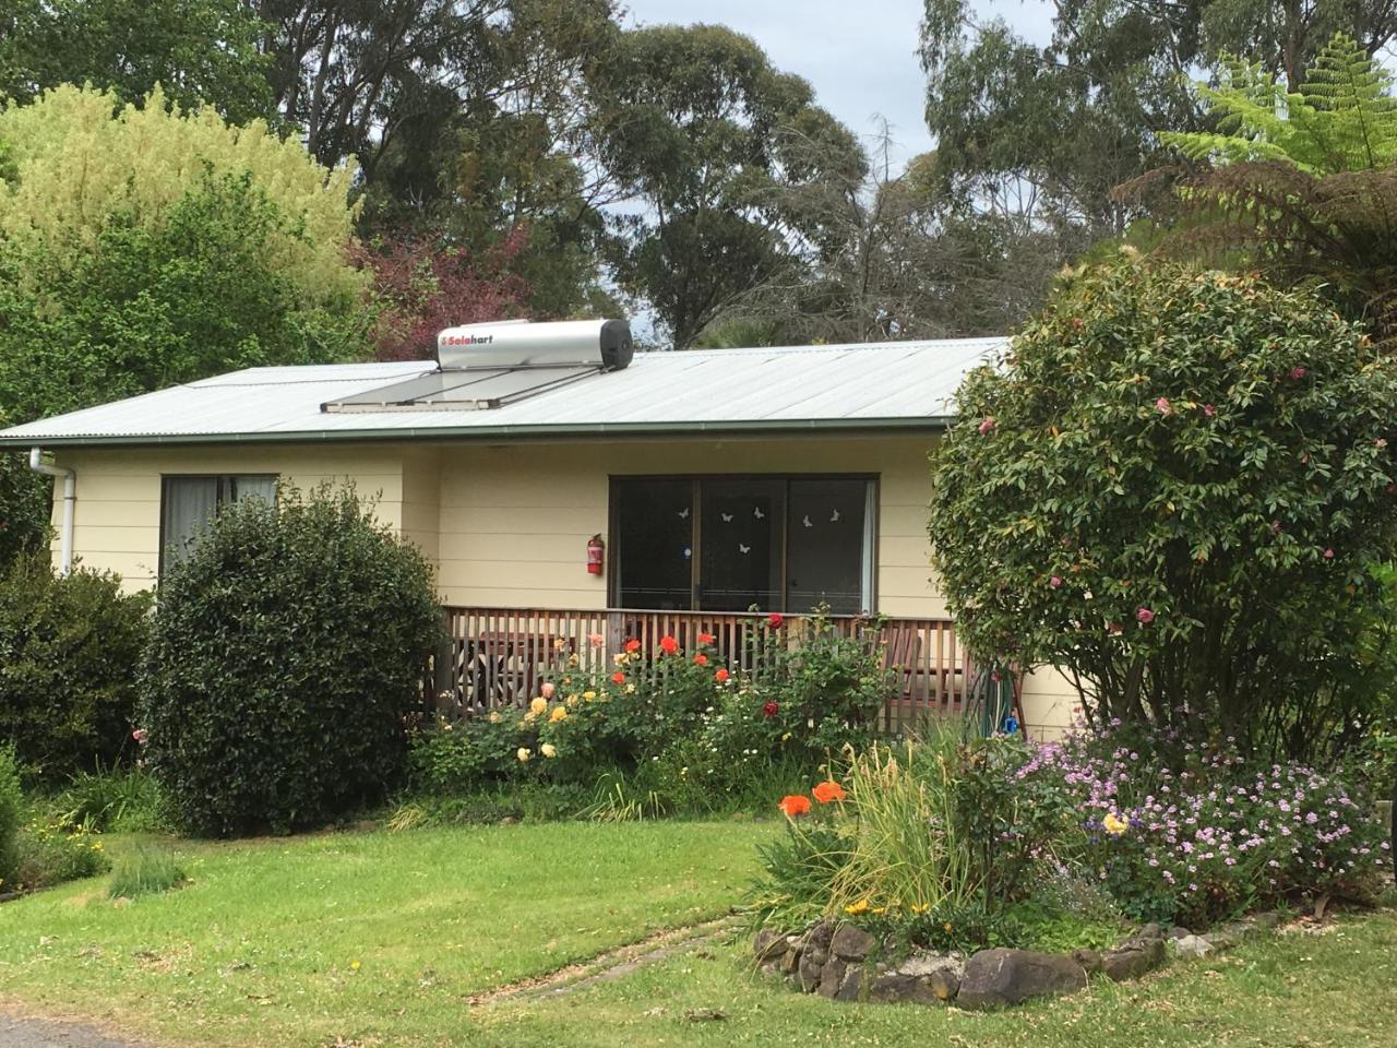
M 1370 898 L 1389 843 L 1366 798 L 1235 741 L 1141 736 L 1119 722 L 1044 745 L 1016 780 L 1063 789 L 1076 847 L 1132 917 L 1196 926 L 1298 894 Z

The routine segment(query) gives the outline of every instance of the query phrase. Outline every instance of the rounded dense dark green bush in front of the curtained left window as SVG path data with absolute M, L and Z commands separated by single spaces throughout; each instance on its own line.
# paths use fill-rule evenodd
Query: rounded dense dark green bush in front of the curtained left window
M 323 826 L 407 773 L 440 634 L 416 546 L 352 490 L 237 502 L 161 581 L 140 739 L 183 829 Z

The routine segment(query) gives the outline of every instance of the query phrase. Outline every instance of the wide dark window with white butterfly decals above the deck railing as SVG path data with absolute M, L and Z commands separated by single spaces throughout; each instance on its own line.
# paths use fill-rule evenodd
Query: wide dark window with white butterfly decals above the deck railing
M 613 604 L 870 611 L 873 506 L 868 476 L 616 478 Z

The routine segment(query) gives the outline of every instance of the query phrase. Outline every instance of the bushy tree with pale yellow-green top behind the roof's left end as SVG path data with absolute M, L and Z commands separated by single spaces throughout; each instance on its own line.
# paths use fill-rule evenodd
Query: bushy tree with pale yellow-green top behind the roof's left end
M 0 411 L 366 354 L 353 169 L 261 122 L 59 87 L 0 112 Z

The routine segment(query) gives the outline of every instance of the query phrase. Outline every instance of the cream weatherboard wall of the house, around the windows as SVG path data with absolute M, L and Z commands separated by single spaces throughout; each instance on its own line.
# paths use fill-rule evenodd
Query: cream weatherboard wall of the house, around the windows
M 500 608 L 606 606 L 605 577 L 585 570 L 585 545 L 606 538 L 610 478 L 657 474 L 869 474 L 877 476 L 875 591 L 886 615 L 939 618 L 932 580 L 926 456 L 914 436 L 725 437 L 366 444 L 134 446 L 64 450 L 77 472 L 74 552 L 119 573 L 129 588 L 156 580 L 161 478 L 277 474 L 299 488 L 352 481 L 377 516 L 437 565 L 443 602 Z M 57 517 L 54 518 L 57 525 Z M 1034 674 L 1025 707 L 1039 734 L 1060 729 L 1077 703 L 1055 671 Z

